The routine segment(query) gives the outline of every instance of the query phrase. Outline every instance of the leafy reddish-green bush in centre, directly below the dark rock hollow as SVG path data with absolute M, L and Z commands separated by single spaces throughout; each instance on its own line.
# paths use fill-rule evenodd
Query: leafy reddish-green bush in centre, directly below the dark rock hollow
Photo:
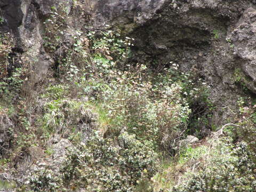
M 105 134 L 115 135 L 127 127 L 129 133 L 166 149 L 186 130 L 190 109 L 179 84 L 156 84 L 162 77 L 153 79 L 144 67 L 135 67 L 136 73 L 119 70 L 110 74 L 110 83 L 97 83 L 98 100 L 113 122 Z

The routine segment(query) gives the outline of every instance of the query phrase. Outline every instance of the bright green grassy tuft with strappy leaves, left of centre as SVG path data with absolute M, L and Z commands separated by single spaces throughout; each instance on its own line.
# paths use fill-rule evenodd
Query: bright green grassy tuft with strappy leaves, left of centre
M 54 97 L 58 96 L 58 94 L 54 95 Z M 58 133 L 67 137 L 72 128 L 77 127 L 78 124 L 96 120 L 93 119 L 93 106 L 75 99 L 52 100 L 45 103 L 44 109 L 45 113 L 41 124 L 42 134 L 49 136 Z

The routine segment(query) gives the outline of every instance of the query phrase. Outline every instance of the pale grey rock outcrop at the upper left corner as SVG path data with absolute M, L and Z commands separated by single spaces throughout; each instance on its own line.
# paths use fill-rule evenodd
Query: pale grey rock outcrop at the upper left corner
M 29 79 L 29 89 L 33 89 L 35 83 L 46 77 L 49 67 L 53 64 L 53 60 L 43 48 L 45 18 L 49 17 L 52 7 L 58 9 L 61 6 L 69 13 L 72 4 L 72 0 L 0 1 L 0 10 L 5 21 L 0 26 L 0 31 L 12 32 L 17 39 L 16 46 L 22 47 L 24 55 L 34 61 L 34 74 Z

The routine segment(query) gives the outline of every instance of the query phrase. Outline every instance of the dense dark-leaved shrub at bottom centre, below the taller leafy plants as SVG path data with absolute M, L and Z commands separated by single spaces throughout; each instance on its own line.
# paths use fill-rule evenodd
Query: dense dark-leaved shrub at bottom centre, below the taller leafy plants
M 157 169 L 157 155 L 126 132 L 115 139 L 98 135 L 86 145 L 69 150 L 62 169 L 63 180 L 86 191 L 132 191 L 147 170 L 147 178 Z

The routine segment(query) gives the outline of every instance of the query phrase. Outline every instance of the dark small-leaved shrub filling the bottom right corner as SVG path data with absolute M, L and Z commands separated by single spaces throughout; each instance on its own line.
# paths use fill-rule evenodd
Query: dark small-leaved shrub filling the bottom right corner
M 256 190 L 255 154 L 245 142 L 230 151 L 230 158 L 217 158 L 211 166 L 194 174 L 172 192 L 252 192 Z

